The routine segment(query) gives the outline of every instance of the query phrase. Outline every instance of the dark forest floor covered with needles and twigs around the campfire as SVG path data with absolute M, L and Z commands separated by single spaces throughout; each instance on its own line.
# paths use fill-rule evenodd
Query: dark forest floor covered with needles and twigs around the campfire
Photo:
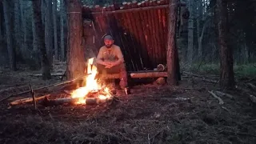
M 22 86 L 28 89 L 29 83 L 38 87 L 60 82 L 31 76 L 38 73 L 2 68 L 0 99 Z M 4 91 L 10 87 L 17 89 Z M 218 90 L 218 84 L 182 74 L 179 86 L 140 84 L 130 95 L 119 91 L 109 105 L 38 105 L 38 110 L 32 103 L 9 106 L 30 97 L 18 95 L 0 102 L 0 143 L 255 143 L 256 105 L 250 98 L 238 90 L 225 91 L 234 98 L 220 97 L 221 105 L 209 90 Z M 65 93 L 57 86 L 37 92 L 44 94 Z

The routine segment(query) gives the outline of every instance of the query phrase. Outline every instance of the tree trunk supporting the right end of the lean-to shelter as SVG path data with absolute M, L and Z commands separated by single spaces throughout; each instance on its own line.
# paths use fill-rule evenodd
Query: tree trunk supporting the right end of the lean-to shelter
M 167 82 L 170 85 L 178 85 L 178 50 L 176 46 L 176 23 L 178 15 L 178 0 L 170 0 L 170 16 L 169 16 L 169 29 L 168 29 L 168 43 L 167 43 Z

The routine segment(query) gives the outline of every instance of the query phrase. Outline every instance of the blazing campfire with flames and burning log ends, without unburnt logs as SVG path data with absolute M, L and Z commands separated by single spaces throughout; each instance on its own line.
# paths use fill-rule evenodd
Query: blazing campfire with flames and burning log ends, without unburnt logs
M 71 92 L 71 98 L 76 99 L 76 104 L 101 103 L 112 98 L 109 88 L 95 78 L 98 71 L 93 62 L 94 58 L 90 58 L 87 62 L 88 76 L 85 78 L 84 86 Z

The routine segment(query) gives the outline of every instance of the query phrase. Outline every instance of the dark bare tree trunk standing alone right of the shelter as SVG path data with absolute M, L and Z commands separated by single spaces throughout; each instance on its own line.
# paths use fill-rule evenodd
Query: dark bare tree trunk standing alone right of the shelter
M 222 88 L 234 88 L 233 50 L 228 39 L 228 11 L 226 0 L 217 0 L 218 8 L 218 38 L 220 44 L 221 75 L 220 86 Z

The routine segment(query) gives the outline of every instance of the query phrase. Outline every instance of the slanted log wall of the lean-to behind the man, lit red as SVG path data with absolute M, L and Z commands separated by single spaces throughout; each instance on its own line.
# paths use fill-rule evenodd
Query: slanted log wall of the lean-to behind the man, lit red
M 84 38 L 97 55 L 104 34 L 114 36 L 130 71 L 166 65 L 169 0 L 123 2 L 122 6 L 83 6 Z

